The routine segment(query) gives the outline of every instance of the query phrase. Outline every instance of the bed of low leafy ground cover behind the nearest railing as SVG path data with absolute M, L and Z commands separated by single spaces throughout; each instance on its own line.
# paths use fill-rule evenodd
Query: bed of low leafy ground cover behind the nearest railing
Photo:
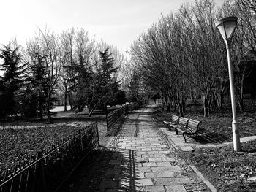
M 3 129 L 0 131 L 0 174 L 13 168 L 19 161 L 37 155 L 37 152 L 79 128 L 75 126 Z

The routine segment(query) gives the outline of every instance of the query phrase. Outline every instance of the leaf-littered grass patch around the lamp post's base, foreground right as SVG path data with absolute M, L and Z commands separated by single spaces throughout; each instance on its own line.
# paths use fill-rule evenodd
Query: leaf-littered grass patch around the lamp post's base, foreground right
M 243 152 L 233 151 L 233 145 L 207 147 L 195 152 L 180 153 L 197 166 L 218 191 L 256 190 L 256 141 L 241 144 Z

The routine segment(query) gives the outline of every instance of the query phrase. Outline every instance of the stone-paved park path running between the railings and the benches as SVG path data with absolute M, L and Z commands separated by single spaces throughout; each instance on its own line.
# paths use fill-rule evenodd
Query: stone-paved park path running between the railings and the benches
M 152 106 L 127 115 L 105 155 L 75 191 L 211 191 L 151 118 Z

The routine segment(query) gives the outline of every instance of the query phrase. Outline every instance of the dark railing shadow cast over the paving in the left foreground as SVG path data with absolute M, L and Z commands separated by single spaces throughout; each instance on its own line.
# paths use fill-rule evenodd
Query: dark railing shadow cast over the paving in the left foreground
M 134 150 L 95 150 L 60 191 L 140 191 L 138 174 Z

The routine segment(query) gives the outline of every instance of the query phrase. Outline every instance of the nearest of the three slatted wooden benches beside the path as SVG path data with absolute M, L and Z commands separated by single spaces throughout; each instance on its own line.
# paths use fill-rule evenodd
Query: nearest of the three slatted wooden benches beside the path
M 176 134 L 178 135 L 178 132 L 181 132 L 185 142 L 187 142 L 188 137 L 197 137 L 198 131 L 200 129 L 200 124 L 201 121 L 199 120 L 189 119 L 187 121 L 187 126 L 175 126 L 174 128 L 176 130 Z

